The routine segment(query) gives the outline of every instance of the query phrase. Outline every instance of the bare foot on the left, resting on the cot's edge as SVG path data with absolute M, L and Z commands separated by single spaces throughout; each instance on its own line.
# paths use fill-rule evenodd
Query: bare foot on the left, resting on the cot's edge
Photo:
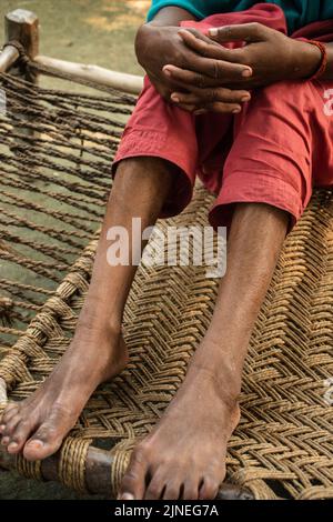
M 128 352 L 119 331 L 78 325 L 74 339 L 46 382 L 28 399 L 7 406 L 1 443 L 30 461 L 46 459 L 61 445 L 88 399 L 120 373 Z

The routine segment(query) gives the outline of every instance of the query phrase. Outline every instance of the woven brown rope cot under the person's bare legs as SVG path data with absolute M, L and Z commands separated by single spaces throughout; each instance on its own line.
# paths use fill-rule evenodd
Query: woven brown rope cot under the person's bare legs
M 74 332 L 111 160 L 134 99 L 110 89 L 42 89 L 9 74 L 0 86 L 7 98 L 0 116 L 0 379 L 10 400 L 22 400 L 50 374 Z M 198 185 L 188 209 L 159 229 L 205 225 L 211 203 Z M 285 242 L 251 338 L 242 420 L 228 454 L 233 486 L 225 491 L 234 496 L 333 498 L 325 385 L 333 375 L 332 231 L 333 194 L 316 191 Z M 152 247 L 161 248 L 154 238 Z M 184 379 L 216 288 L 205 267 L 141 264 L 125 308 L 127 370 L 95 391 L 59 454 L 31 464 L 1 451 L 0 464 L 114 496 L 133 445 Z

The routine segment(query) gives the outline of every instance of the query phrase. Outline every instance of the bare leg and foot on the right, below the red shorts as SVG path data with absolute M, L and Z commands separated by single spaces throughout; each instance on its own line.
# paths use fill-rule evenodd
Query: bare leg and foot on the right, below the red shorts
M 210 328 L 161 421 L 134 449 L 120 499 L 213 499 L 225 475 L 226 443 L 250 334 L 286 234 L 287 214 L 265 204 L 236 207 L 228 270 Z

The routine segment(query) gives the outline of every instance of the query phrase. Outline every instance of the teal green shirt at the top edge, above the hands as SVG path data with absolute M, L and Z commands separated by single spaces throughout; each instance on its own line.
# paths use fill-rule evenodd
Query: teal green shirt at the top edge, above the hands
M 148 20 L 154 18 L 164 7 L 175 6 L 191 12 L 202 20 L 210 14 L 244 11 L 260 0 L 152 0 Z M 333 19 L 333 0 L 270 0 L 265 3 L 280 6 L 287 21 L 289 33 L 311 22 Z

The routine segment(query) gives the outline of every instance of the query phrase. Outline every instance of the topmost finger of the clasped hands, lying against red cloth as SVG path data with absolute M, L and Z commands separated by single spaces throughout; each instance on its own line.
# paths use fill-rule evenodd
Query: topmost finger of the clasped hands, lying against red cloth
M 266 38 L 268 28 L 258 22 L 224 26 L 209 29 L 209 36 L 220 43 L 231 41 L 258 42 Z

